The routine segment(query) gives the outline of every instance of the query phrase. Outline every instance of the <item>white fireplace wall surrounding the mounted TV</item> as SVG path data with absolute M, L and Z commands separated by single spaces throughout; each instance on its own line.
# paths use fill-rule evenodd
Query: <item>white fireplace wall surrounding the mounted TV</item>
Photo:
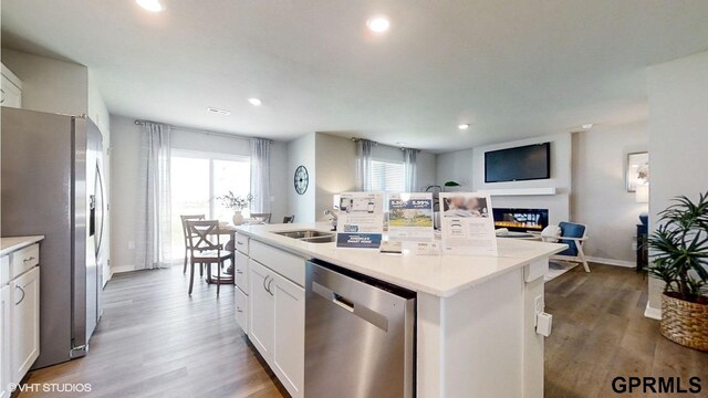
M 485 153 L 523 145 L 551 143 L 551 178 L 530 181 L 485 182 Z M 571 157 L 570 133 L 487 145 L 472 149 L 472 189 L 555 188 L 553 196 L 494 196 L 498 208 L 549 209 L 550 223 L 570 220 Z M 439 181 L 438 181 L 439 182 Z

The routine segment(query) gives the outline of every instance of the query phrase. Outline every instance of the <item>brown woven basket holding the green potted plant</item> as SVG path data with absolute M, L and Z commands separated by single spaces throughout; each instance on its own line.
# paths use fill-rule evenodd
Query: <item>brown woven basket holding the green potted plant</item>
M 663 294 L 660 331 L 671 342 L 708 352 L 708 304 Z

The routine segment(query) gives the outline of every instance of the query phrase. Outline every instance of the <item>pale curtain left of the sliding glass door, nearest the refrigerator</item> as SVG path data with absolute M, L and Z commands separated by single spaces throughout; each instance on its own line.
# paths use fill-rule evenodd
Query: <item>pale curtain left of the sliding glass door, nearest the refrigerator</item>
M 140 132 L 140 185 L 135 235 L 137 270 L 164 268 L 171 263 L 169 134 L 169 126 L 150 122 L 145 122 Z

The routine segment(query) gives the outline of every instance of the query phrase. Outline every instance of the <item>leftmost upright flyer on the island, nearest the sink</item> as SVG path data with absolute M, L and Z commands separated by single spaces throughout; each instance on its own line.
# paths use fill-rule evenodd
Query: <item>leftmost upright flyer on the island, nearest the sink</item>
M 340 196 L 337 248 L 378 249 L 384 232 L 382 193 L 347 192 Z

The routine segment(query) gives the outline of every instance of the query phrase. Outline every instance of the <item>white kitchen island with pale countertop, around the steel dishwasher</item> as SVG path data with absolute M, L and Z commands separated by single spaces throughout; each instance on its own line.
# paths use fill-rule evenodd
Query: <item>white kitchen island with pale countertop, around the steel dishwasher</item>
M 329 226 L 238 228 L 236 300 L 237 312 L 248 314 L 239 324 L 294 397 L 308 397 L 300 359 L 304 331 L 298 320 L 304 320 L 304 261 L 310 259 L 416 292 L 417 397 L 543 396 L 543 337 L 535 333 L 535 305 L 542 305 L 548 259 L 564 244 L 499 239 L 497 256 L 402 255 L 337 249 L 334 243 L 306 243 L 274 233 L 288 230 L 327 231 Z M 275 285 L 284 287 L 281 296 L 290 300 L 279 305 L 290 310 L 290 324 L 268 323 L 273 331 L 266 337 L 260 317 L 267 308 L 257 298 L 258 284 L 273 289 L 262 271 L 272 273 Z M 246 276 L 239 282 L 239 275 Z M 289 328 L 287 341 L 278 337 L 279 327 Z M 288 353 L 267 347 L 264 341 L 281 342 Z M 289 357 L 273 356 L 278 352 Z

